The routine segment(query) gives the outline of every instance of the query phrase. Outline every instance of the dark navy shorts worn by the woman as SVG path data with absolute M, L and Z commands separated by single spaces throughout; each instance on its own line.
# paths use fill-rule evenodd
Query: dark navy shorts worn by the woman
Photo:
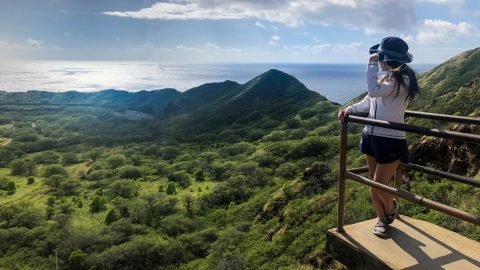
M 360 151 L 375 158 L 377 163 L 391 163 L 398 159 L 408 162 L 408 146 L 405 139 L 393 139 L 362 132 Z

